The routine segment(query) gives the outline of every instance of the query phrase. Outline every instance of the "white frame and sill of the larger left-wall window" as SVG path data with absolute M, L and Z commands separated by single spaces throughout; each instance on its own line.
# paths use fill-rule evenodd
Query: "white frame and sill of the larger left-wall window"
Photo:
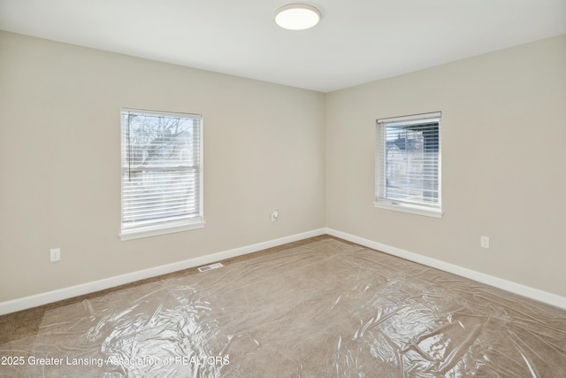
M 127 161 L 127 151 L 128 148 L 128 141 L 129 136 L 126 135 L 128 132 L 128 120 L 125 120 L 126 114 L 138 114 L 138 115 L 148 115 L 148 116 L 166 116 L 172 118 L 182 118 L 182 119 L 190 119 L 197 121 L 198 127 L 198 135 L 193 135 L 193 154 L 194 156 L 194 166 L 191 166 L 191 169 L 197 171 L 198 177 L 198 213 L 192 214 L 190 216 L 169 216 L 164 217 L 162 219 L 153 219 L 153 220 L 140 220 L 140 221 L 124 221 L 124 212 L 125 212 L 125 180 L 127 176 L 128 170 L 128 161 Z M 125 124 L 126 123 L 126 124 Z M 120 180 L 120 229 L 121 232 L 119 234 L 120 240 L 131 240 L 137 239 L 141 237 L 148 237 L 148 236 L 155 236 L 155 235 L 164 235 L 164 234 L 171 234 L 180 231 L 187 231 L 197 228 L 204 227 L 204 217 L 203 217 L 203 116 L 201 114 L 193 114 L 193 113 L 183 113 L 183 112 L 162 112 L 162 111 L 154 111 L 154 110 L 146 110 L 146 109 L 134 109 L 134 108 L 121 108 L 120 110 L 120 129 L 121 129 L 121 137 L 120 137 L 120 144 L 121 144 L 121 163 L 120 163 L 120 171 L 121 171 L 121 180 Z M 187 168 L 186 166 L 179 166 L 180 169 Z M 175 166 L 172 166 L 174 169 Z M 168 169 L 171 169 L 169 167 Z

